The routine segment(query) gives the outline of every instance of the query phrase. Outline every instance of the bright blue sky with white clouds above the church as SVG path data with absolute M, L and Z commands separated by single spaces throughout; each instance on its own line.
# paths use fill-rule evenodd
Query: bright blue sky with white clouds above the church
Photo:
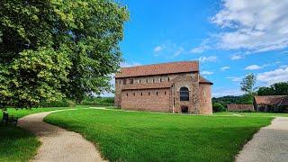
M 213 96 L 237 95 L 247 73 L 257 85 L 288 80 L 288 2 L 145 0 L 128 6 L 122 67 L 200 60 Z

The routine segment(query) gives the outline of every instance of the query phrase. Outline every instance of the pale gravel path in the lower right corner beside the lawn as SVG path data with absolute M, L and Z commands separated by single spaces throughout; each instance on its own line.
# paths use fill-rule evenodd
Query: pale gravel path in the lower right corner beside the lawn
M 237 162 L 287 162 L 288 118 L 277 117 L 259 130 L 240 151 Z

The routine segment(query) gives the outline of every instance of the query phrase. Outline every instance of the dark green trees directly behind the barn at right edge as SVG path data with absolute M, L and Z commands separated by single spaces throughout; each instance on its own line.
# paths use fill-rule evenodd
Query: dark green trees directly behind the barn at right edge
M 258 95 L 287 95 L 288 94 L 288 82 L 275 83 L 270 86 L 259 87 L 257 91 Z

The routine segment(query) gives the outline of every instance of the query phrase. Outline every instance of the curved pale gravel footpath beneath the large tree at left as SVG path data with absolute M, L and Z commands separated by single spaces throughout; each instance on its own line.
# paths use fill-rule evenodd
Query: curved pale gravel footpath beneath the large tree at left
M 103 161 L 94 144 L 80 134 L 43 121 L 49 113 L 60 111 L 67 110 L 34 113 L 19 120 L 19 126 L 31 130 L 41 142 L 37 155 L 31 161 Z

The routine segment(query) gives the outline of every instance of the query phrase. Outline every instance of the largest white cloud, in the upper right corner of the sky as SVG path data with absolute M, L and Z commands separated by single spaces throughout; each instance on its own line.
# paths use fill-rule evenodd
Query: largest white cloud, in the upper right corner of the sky
M 224 0 L 223 8 L 211 22 L 223 29 L 220 49 L 247 49 L 262 52 L 288 47 L 287 0 Z

